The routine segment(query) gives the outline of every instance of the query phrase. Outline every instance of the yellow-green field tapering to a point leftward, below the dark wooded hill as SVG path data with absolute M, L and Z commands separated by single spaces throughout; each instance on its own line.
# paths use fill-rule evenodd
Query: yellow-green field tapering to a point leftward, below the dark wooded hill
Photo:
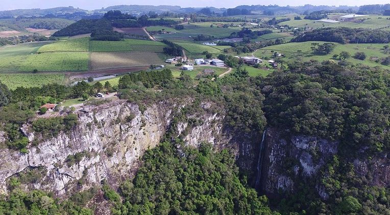
M 40 47 L 38 52 L 88 52 L 89 38 L 69 39 Z

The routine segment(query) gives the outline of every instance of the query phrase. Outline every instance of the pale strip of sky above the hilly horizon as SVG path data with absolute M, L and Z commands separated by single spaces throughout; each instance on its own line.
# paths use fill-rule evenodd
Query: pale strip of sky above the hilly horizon
M 14 10 L 14 9 L 31 9 L 31 8 L 54 8 L 62 6 L 74 6 L 86 10 L 100 9 L 113 5 L 178 5 L 181 7 L 216 7 L 216 8 L 234 8 L 238 5 L 270 5 L 277 4 L 279 6 L 300 6 L 305 4 L 311 5 L 372 5 L 372 4 L 386 4 L 387 0 L 279 0 L 279 1 L 255 1 L 255 0 L 145 0 L 139 1 L 124 1 L 124 0 L 0 0 L 0 10 Z M 388 3 L 388 2 L 387 2 Z

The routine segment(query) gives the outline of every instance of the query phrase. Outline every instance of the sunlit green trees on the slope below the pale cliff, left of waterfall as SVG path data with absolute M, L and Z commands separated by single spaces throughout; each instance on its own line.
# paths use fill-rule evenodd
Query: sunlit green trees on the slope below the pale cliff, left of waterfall
M 211 145 L 199 149 L 176 146 L 181 140 L 162 142 L 143 155 L 143 165 L 133 181 L 120 185 L 118 193 L 108 186 L 104 196 L 117 214 L 278 214 L 267 206 L 265 196 L 240 179 L 233 156 L 213 152 Z M 183 156 L 185 155 L 185 156 Z

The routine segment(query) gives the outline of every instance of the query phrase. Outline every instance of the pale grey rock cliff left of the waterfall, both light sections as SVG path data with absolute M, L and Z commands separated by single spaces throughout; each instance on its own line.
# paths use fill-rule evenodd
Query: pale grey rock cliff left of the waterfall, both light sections
M 27 154 L 2 149 L 0 192 L 7 192 L 7 182 L 11 177 L 34 168 L 43 168 L 43 175 L 38 181 L 25 185 L 26 188 L 44 189 L 57 196 L 66 194 L 78 183 L 82 189 L 87 189 L 107 180 L 115 187 L 121 179 L 136 172 L 144 151 L 159 144 L 172 126 L 175 115 L 191 102 L 160 102 L 141 113 L 138 105 L 115 101 L 94 107 L 88 113 L 79 113 L 76 128 L 40 141 L 38 146 L 29 146 Z M 224 128 L 224 114 L 214 111 L 215 104 L 201 106 L 204 110 L 201 114 L 188 116 L 189 119 L 197 118 L 199 123 L 189 126 L 188 122 L 179 122 L 177 134 L 184 137 L 187 145 L 194 147 L 206 141 L 216 149 L 230 148 L 241 161 L 241 167 L 251 169 L 252 160 L 257 155 L 251 148 L 253 144 L 249 140 L 236 142 L 241 137 Z M 25 132 L 28 130 L 23 128 Z M 79 160 L 74 160 L 75 155 Z

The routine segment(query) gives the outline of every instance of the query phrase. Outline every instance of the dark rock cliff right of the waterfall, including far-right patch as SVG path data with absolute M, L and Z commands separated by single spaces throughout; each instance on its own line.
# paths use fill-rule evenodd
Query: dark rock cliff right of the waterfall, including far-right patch
M 320 171 L 337 155 L 338 141 L 291 135 L 288 131 L 269 128 L 264 143 L 261 184 L 257 187 L 262 193 L 271 198 L 280 197 L 280 193 L 294 192 L 298 183 L 304 183 L 312 185 L 322 199 L 329 197 L 321 184 Z M 353 163 L 355 174 L 367 181 L 367 185 L 390 186 L 390 160 L 387 154 L 370 161 L 351 159 L 349 162 Z

